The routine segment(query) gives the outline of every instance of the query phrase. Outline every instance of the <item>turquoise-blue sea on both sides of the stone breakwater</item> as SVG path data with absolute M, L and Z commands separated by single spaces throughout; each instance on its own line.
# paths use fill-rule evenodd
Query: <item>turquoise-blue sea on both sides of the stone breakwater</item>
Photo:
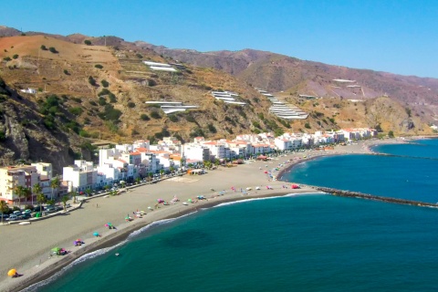
M 438 202 L 438 140 L 297 165 L 287 180 Z M 119 256 L 115 256 L 119 253 Z M 27 291 L 436 291 L 438 210 L 328 194 L 144 228 Z

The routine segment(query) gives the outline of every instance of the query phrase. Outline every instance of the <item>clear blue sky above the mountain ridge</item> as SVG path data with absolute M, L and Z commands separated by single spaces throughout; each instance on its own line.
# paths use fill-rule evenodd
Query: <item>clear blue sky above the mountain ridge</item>
M 0 25 L 438 78 L 438 1 L 0 0 Z M 14 6 L 14 7 L 13 7 Z

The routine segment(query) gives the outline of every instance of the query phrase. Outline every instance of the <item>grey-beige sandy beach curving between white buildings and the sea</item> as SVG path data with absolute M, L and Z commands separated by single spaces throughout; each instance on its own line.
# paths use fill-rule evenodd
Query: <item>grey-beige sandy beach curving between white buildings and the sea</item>
M 318 193 L 313 189 L 301 188 L 293 190 L 291 183 L 268 181 L 266 170 L 272 170 L 284 163 L 282 171 L 286 171 L 297 162 L 314 159 L 318 156 L 341 155 L 348 153 L 370 153 L 370 146 L 381 143 L 400 143 L 403 140 L 371 140 L 360 141 L 348 146 L 336 146 L 331 151 L 306 151 L 278 157 L 270 162 L 251 162 L 232 168 L 220 167 L 203 175 L 183 175 L 160 183 L 146 184 L 127 190 L 116 196 L 90 197 L 86 203 L 71 212 L 39 220 L 29 225 L 0 225 L 2 234 L 0 249 L 2 261 L 0 267 L 0 290 L 19 291 L 47 276 L 53 275 L 61 267 L 77 259 L 80 255 L 112 246 L 125 240 L 130 233 L 152 222 L 178 217 L 196 212 L 197 208 L 210 207 L 218 203 L 245 200 L 255 197 L 281 196 L 289 193 Z M 290 162 L 292 160 L 292 162 Z M 272 189 L 266 189 L 269 185 Z M 285 189 L 283 185 L 287 185 Z M 255 186 L 260 186 L 256 191 Z M 231 188 L 235 187 L 235 191 Z M 246 191 L 247 187 L 252 190 Z M 214 191 L 212 191 L 212 189 Z M 241 193 L 242 189 L 242 193 Z M 219 193 L 224 192 L 223 195 Z M 155 209 L 157 199 L 170 202 L 176 195 L 180 202 L 163 205 Z M 203 195 L 207 200 L 184 205 L 188 199 Z M 151 207 L 150 210 L 148 207 Z M 145 211 L 142 218 L 130 222 L 125 217 L 136 211 Z M 109 230 L 104 225 L 111 223 L 117 229 Z M 93 236 L 98 232 L 101 237 Z M 85 244 L 74 246 L 73 242 L 80 238 Z M 52 247 L 63 247 L 70 251 L 64 256 L 49 256 Z M 7 271 L 16 268 L 23 276 L 7 277 Z

